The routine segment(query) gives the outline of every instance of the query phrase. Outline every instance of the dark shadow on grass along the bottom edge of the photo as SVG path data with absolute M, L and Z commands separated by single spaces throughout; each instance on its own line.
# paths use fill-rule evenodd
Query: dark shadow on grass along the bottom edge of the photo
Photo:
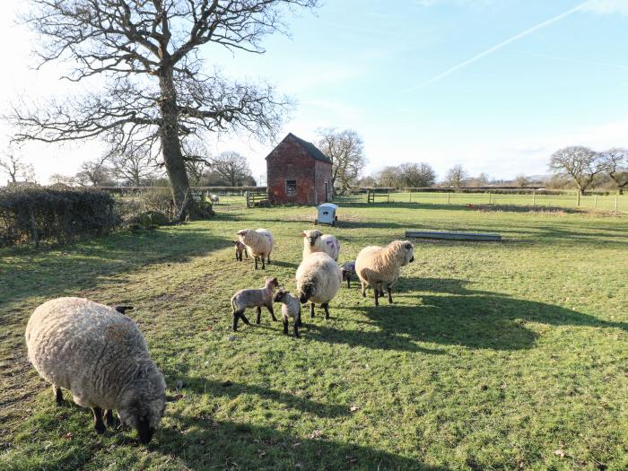
M 324 431 L 303 439 L 270 427 L 214 422 L 209 417 L 177 417 L 180 428 L 156 434 L 152 451 L 176 455 L 190 469 L 412 469 L 445 471 L 421 461 L 342 441 L 327 440 Z M 314 431 L 312 431 L 314 432 Z

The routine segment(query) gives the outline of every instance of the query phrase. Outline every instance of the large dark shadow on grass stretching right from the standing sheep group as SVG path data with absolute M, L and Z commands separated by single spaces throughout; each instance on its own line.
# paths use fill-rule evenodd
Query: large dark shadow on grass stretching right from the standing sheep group
M 406 278 L 403 285 L 413 292 L 439 294 L 393 293 L 393 301 L 416 298 L 415 306 L 388 305 L 388 301 L 382 299 L 379 307 L 375 307 L 370 297 L 361 305 L 346 309 L 359 310 L 369 318 L 369 324 L 379 330 L 346 330 L 308 323 L 304 336 L 332 344 L 438 354 L 441 353 L 439 350 L 424 348 L 417 343 L 494 350 L 531 348 L 538 334 L 526 327 L 528 322 L 628 331 L 628 324 L 624 322 L 599 320 L 560 306 L 512 299 L 500 293 L 468 290 L 462 280 Z M 360 295 L 359 292 L 356 295 Z M 370 305 L 364 306 L 366 302 Z

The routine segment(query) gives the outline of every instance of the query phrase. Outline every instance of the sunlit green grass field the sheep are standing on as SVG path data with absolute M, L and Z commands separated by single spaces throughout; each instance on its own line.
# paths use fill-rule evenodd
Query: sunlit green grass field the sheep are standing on
M 232 336 L 229 299 L 266 274 L 293 289 L 313 208 L 216 209 L 0 253 L 0 469 L 628 468 L 625 214 L 345 204 L 341 261 L 406 229 L 505 240 L 417 240 L 394 305 L 344 286 L 295 339 L 267 313 Z M 245 227 L 275 235 L 266 273 L 234 260 Z M 150 446 L 96 435 L 26 362 L 31 311 L 62 295 L 135 305 L 173 399 Z

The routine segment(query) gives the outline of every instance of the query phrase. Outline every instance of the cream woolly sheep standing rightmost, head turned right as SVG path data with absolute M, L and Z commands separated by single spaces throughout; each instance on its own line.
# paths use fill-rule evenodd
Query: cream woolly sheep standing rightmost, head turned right
M 383 287 L 388 291 L 388 302 L 392 304 L 392 285 L 399 278 L 402 266 L 414 262 L 414 248 L 407 240 L 394 240 L 386 247 L 370 246 L 360 251 L 355 259 L 355 272 L 362 282 L 362 297 L 366 297 L 366 288 L 375 291 L 375 305 L 383 296 Z

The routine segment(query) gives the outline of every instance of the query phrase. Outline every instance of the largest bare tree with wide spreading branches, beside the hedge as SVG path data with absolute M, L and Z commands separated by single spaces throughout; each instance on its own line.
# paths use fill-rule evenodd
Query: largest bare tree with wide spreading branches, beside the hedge
M 41 107 L 19 104 L 9 117 L 17 140 L 63 142 L 106 135 L 125 147 L 159 143 L 177 217 L 190 203 L 182 136 L 244 129 L 274 137 L 290 100 L 265 84 L 203 73 L 199 48 L 265 52 L 261 39 L 286 32 L 283 12 L 318 0 L 31 0 L 25 20 L 39 33 L 41 64 L 74 64 L 74 82 L 98 75 L 101 92 Z

